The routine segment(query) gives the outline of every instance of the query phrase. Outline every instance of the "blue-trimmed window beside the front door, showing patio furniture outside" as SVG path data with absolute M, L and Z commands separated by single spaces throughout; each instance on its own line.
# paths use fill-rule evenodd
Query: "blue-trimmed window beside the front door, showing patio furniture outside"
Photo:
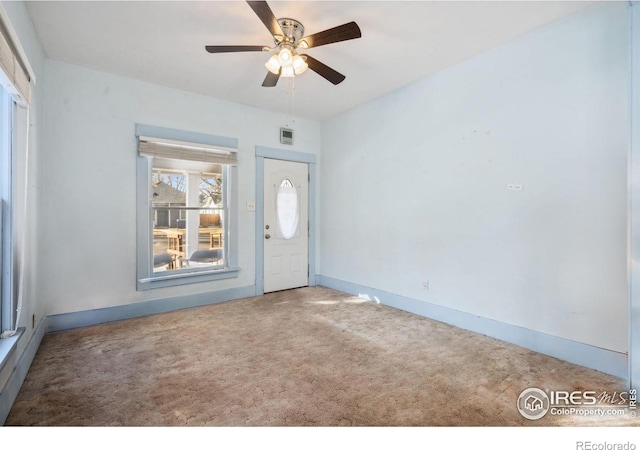
M 220 144 L 235 140 L 147 125 L 137 135 L 138 289 L 237 276 L 236 150 Z

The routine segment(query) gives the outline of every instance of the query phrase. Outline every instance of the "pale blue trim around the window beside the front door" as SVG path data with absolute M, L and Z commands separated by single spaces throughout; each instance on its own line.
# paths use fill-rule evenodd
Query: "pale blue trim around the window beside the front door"
M 236 138 L 228 138 L 202 133 L 174 130 L 153 125 L 136 124 L 136 144 L 140 136 L 151 136 L 160 139 L 193 142 L 211 146 L 235 149 L 238 147 Z M 225 204 L 228 208 L 228 253 L 227 266 L 224 269 L 197 268 L 188 271 L 172 273 L 154 273 L 151 253 L 151 236 L 153 235 L 153 212 L 151 208 L 151 173 L 153 158 L 140 156 L 136 145 L 136 206 L 137 206 L 137 290 L 180 286 L 185 284 L 236 278 L 238 267 L 238 177 L 237 166 L 225 165 L 226 190 Z

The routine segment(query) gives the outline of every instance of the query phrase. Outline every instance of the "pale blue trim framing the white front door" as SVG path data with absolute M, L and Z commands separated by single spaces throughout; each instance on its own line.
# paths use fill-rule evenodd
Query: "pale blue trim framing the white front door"
M 316 155 L 256 146 L 256 295 L 264 294 L 264 160 L 307 164 L 309 167 L 309 286 L 316 285 Z

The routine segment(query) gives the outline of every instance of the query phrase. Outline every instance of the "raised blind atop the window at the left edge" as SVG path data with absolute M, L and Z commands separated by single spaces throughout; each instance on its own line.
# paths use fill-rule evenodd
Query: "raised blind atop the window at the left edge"
M 31 101 L 31 84 L 35 82 L 33 70 L 24 50 L 13 31 L 7 14 L 0 7 L 0 81 L 5 89 L 19 103 L 29 104 Z

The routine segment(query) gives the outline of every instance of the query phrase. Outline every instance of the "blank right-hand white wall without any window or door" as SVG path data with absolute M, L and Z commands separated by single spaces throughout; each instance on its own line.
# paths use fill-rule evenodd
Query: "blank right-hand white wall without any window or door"
M 627 20 L 596 5 L 323 123 L 318 272 L 626 352 Z

